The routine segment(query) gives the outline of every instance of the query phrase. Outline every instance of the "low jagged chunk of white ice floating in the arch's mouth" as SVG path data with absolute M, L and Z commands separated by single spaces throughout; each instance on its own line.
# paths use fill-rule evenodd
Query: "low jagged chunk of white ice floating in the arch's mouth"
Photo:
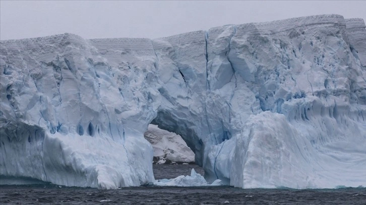
M 205 178 L 197 173 L 195 169 L 191 170 L 191 176 L 178 176 L 173 179 L 158 179 L 154 181 L 157 186 L 220 186 L 223 185 L 220 179 L 216 179 L 212 184 L 207 183 Z

